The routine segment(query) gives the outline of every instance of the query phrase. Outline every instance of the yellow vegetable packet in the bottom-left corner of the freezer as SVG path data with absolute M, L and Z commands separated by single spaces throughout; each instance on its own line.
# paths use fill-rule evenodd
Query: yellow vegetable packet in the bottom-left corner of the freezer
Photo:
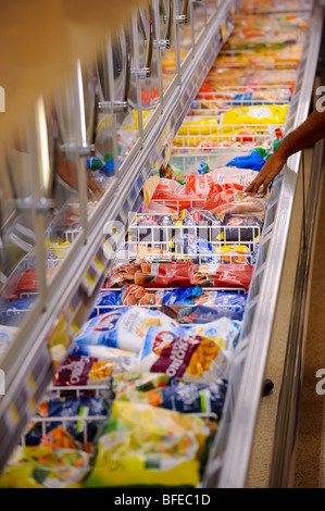
M 85 451 L 20 446 L 0 475 L 0 488 L 80 488 L 89 470 Z

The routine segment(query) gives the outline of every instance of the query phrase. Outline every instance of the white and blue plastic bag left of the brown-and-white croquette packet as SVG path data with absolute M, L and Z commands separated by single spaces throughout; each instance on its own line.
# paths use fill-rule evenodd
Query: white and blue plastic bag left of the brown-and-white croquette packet
M 150 326 L 172 328 L 177 326 L 160 311 L 141 307 L 122 307 L 92 317 L 82 327 L 75 346 L 103 346 L 139 352 Z

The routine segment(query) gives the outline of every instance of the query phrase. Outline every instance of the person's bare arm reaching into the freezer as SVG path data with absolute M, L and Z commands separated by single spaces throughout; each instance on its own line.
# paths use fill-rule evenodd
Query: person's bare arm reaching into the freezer
M 283 139 L 274 153 L 266 160 L 255 179 L 246 188 L 246 191 L 258 192 L 262 186 L 263 194 L 266 195 L 270 183 L 280 173 L 287 159 L 291 154 L 311 147 L 324 137 L 325 112 L 314 110 L 298 128 Z

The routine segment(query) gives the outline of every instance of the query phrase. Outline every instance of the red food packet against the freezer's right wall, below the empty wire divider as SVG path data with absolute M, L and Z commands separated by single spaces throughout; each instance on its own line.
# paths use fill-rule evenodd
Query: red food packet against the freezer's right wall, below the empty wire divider
M 200 264 L 195 275 L 198 286 L 242 288 L 248 292 L 253 274 L 252 264 Z

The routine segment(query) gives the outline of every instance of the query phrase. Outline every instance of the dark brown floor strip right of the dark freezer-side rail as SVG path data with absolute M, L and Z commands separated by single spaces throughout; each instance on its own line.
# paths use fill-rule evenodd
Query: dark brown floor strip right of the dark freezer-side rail
M 318 369 L 325 367 L 325 180 L 314 250 L 303 386 L 296 454 L 295 487 L 325 488 L 325 395 L 315 390 Z M 321 257 L 320 257 L 321 256 Z

